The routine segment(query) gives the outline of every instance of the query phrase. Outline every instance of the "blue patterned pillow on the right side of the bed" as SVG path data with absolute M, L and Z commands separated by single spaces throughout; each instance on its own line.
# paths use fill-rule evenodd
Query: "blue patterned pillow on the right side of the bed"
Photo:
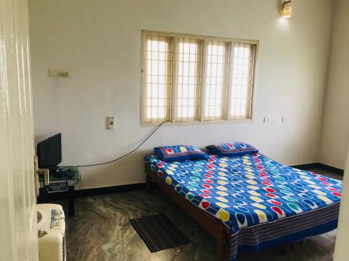
M 209 145 L 206 148 L 212 154 L 218 155 L 219 157 L 233 157 L 258 152 L 258 150 L 255 147 L 243 142 Z

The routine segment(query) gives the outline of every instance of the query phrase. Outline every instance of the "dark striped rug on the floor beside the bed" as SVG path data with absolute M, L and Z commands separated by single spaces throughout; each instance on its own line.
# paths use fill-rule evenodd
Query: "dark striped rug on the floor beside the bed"
M 191 242 L 165 214 L 142 216 L 130 222 L 151 253 Z

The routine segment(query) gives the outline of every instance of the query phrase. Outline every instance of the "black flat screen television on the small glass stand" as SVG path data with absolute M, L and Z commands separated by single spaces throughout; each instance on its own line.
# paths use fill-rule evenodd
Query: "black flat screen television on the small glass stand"
M 61 134 L 56 134 L 37 145 L 39 168 L 57 168 L 62 161 Z

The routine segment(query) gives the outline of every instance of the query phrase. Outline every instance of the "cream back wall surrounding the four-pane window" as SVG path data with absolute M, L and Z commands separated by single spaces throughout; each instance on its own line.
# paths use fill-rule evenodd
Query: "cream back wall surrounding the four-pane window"
M 140 126 L 140 35 L 148 29 L 260 40 L 253 122 L 167 124 L 126 159 L 82 168 L 85 188 L 144 182 L 143 157 L 156 145 L 246 141 L 283 164 L 317 162 L 333 1 L 292 3 L 293 17 L 282 19 L 279 0 L 29 1 L 36 141 L 61 132 L 63 164 L 135 148 L 151 131 Z M 73 78 L 50 78 L 50 68 L 71 69 Z

